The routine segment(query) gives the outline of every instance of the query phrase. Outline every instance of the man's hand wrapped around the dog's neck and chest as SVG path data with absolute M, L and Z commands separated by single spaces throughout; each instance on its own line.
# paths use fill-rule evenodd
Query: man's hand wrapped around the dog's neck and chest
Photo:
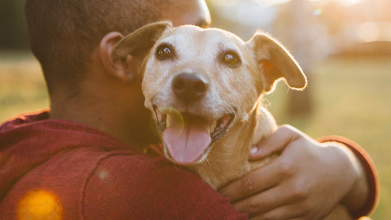
M 281 155 L 219 189 L 251 219 L 322 219 L 351 194 L 363 173 L 346 147 L 321 144 L 291 126 L 280 127 L 256 147 L 249 160 Z M 363 205 L 365 193 L 361 200 L 356 202 Z

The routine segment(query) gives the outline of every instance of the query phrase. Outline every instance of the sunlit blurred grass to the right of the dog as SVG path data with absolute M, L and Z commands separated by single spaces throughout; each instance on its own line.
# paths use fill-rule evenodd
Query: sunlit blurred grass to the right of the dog
M 308 88 L 313 111 L 286 113 L 289 91 L 283 83 L 266 98 L 278 124 L 292 124 L 310 137 L 341 135 L 371 155 L 380 176 L 380 203 L 371 216 L 391 216 L 391 58 L 338 58 L 312 69 Z M 288 92 L 287 92 L 288 91 Z

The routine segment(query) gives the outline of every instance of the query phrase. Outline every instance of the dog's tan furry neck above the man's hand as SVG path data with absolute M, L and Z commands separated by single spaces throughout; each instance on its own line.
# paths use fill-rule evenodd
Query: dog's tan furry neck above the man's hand
M 248 155 L 251 146 L 273 133 L 276 128 L 273 116 L 257 103 L 248 121 L 236 121 L 226 135 L 214 143 L 202 163 L 187 166 L 185 169 L 198 173 L 201 179 L 217 189 L 271 160 L 268 157 L 265 160 L 249 162 Z

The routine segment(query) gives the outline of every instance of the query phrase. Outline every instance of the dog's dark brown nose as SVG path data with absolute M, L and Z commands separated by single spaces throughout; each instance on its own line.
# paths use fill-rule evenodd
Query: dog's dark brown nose
M 178 99 L 187 103 L 205 96 L 208 83 L 196 74 L 181 73 L 172 80 L 172 91 Z

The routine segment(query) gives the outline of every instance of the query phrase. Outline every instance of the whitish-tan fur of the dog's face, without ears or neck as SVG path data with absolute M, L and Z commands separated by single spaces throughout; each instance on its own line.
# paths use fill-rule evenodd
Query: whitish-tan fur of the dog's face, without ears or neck
M 174 57 L 158 60 L 155 50 L 159 45 L 172 47 Z M 240 97 L 253 97 L 257 94 L 253 87 L 246 87 L 242 81 L 251 81 L 245 63 L 238 68 L 229 68 L 221 63 L 224 52 L 235 51 L 242 58 L 239 47 L 244 42 L 217 29 L 199 29 L 183 26 L 166 31 L 152 49 L 145 64 L 143 74 L 143 92 L 145 106 L 152 110 L 152 105 L 172 107 L 179 112 L 189 112 L 209 119 L 218 119 L 225 114 L 235 113 L 246 119 L 249 109 L 243 108 Z M 244 58 L 242 58 L 244 61 Z M 208 82 L 208 91 L 201 100 L 185 104 L 178 100 L 172 90 L 172 80 L 181 73 L 197 74 Z M 238 103 L 238 104 L 236 104 Z

